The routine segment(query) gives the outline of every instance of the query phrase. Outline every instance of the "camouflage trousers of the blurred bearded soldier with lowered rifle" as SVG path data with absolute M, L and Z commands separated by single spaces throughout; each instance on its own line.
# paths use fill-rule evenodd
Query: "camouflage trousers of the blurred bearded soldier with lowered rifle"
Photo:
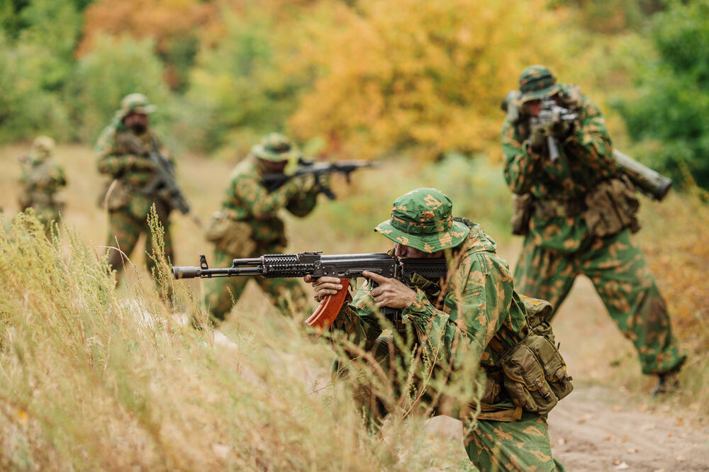
M 172 237 L 170 237 L 169 231 L 169 210 L 164 203 L 159 202 L 155 203 L 155 209 L 157 210 L 157 219 L 165 230 L 165 257 L 174 264 Z M 130 254 L 133 252 L 138 242 L 138 238 L 143 234 L 145 234 L 145 252 L 146 254 L 152 254 L 152 236 L 150 234 L 150 227 L 147 224 L 147 214 L 143 218 L 136 218 L 127 208 L 108 211 L 108 242 L 106 243 L 108 249 L 106 249 L 106 252 L 108 253 L 108 264 L 112 269 L 115 269 L 118 274 L 123 271 L 125 263 L 128 262 L 127 257 L 130 257 Z M 152 267 L 155 263 L 149 255 L 145 256 L 145 263 L 148 271 L 152 273 Z

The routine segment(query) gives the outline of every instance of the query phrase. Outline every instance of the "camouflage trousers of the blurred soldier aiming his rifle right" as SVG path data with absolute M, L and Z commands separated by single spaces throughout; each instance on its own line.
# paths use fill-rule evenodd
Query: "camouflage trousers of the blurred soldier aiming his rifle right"
M 277 254 L 281 247 L 259 246 L 254 254 L 247 257 L 257 257 L 261 254 Z M 230 266 L 233 256 L 218 249 L 214 250 L 214 266 Z M 263 279 L 262 277 L 219 277 L 207 282 L 208 291 L 204 298 L 209 313 L 218 319 L 224 320 L 234 304 L 239 300 L 249 280 L 253 279 L 266 293 L 274 307 L 281 313 L 298 312 L 306 307 L 307 296 L 298 279 Z

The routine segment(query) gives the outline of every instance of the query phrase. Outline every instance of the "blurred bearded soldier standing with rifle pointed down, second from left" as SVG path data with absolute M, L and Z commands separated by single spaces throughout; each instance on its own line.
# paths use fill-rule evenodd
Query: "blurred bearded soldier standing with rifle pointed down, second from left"
M 160 138 L 150 129 L 148 115 L 153 111 L 155 106 L 150 105 L 143 94 L 125 96 L 121 109 L 116 111 L 111 124 L 104 128 L 96 142 L 99 172 L 112 179 L 99 203 L 108 210 L 108 264 L 118 273 L 123 270 L 125 257 L 130 257 L 141 234 L 146 235 L 145 251 L 152 253 L 147 216 L 153 204 L 164 227 L 165 257 L 174 263 L 169 200 L 160 191 L 144 193 L 142 190 L 155 176 L 155 164 L 148 157 L 153 147 L 172 162 Z M 147 257 L 146 261 L 150 270 L 152 259 Z

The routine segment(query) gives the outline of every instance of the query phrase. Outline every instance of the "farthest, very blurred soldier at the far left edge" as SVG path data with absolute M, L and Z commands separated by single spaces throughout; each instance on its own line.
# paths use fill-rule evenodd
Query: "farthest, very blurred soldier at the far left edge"
M 59 220 L 64 202 L 57 193 L 67 185 L 64 169 L 54 157 L 54 140 L 48 136 L 38 136 L 32 143 L 30 154 L 19 158 L 22 167 L 22 193 L 18 199 L 20 210 L 33 208 L 38 220 L 45 225 L 47 235 L 51 233 L 52 221 Z

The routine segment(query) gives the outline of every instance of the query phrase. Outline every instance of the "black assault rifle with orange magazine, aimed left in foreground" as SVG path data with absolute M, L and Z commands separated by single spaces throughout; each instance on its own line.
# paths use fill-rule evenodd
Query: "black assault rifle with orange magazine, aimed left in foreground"
M 447 264 L 445 259 L 399 259 L 386 253 L 372 254 L 333 254 L 324 255 L 321 252 L 299 252 L 298 254 L 264 254 L 260 257 L 234 259 L 230 267 L 209 269 L 207 259 L 202 254 L 199 257 L 199 267 L 172 267 L 175 279 L 194 279 L 200 277 L 250 277 L 290 278 L 310 275 L 313 278 L 322 276 L 339 277 L 342 290 L 336 295 L 326 296 L 313 315 L 306 320 L 308 326 L 318 330 L 326 330 L 333 324 L 337 313 L 340 313 L 345 303 L 347 287 L 350 279 L 362 277 L 362 272 L 369 271 L 385 277 L 394 278 L 409 283 L 414 274 L 431 281 L 445 277 Z M 376 283 L 369 280 L 369 287 Z M 398 310 L 381 308 L 384 315 L 393 315 Z

